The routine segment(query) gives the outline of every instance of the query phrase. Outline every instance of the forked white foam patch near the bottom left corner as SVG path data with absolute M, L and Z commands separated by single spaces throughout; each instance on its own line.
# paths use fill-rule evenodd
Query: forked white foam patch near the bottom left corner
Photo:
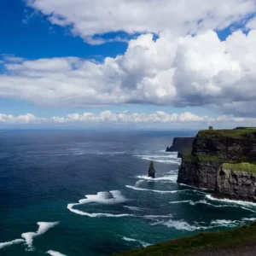
M 32 247 L 34 237 L 43 235 L 47 230 L 53 228 L 57 224 L 59 224 L 59 222 L 38 222 L 39 228 L 37 232 L 27 232 L 21 234 L 21 237 L 23 237 L 26 241 L 28 250 L 32 251 L 34 249 Z

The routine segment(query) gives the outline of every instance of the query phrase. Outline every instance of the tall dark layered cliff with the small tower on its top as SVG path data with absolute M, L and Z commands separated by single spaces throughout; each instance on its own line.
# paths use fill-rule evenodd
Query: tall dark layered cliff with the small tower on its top
M 199 131 L 192 153 L 183 155 L 177 183 L 215 189 L 224 163 L 256 160 L 256 129 Z

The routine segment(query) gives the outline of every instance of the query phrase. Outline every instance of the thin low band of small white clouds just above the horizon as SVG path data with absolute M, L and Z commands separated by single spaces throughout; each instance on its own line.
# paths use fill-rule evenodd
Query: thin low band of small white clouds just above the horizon
M 256 125 L 256 119 L 252 118 L 234 118 L 230 116 L 218 116 L 211 118 L 208 116 L 198 116 L 194 113 L 165 113 L 158 111 L 155 113 L 112 113 L 103 111 L 102 113 L 70 113 L 66 117 L 53 116 L 48 119 L 36 117 L 32 113 L 14 116 L 11 114 L 0 113 L 0 124 L 23 124 L 23 125 L 91 125 L 91 124 L 201 124 L 201 125 Z

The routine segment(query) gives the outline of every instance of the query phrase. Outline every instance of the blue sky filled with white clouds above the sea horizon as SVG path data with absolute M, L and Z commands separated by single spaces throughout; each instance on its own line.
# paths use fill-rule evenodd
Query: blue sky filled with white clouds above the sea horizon
M 0 129 L 256 125 L 256 0 L 3 0 Z

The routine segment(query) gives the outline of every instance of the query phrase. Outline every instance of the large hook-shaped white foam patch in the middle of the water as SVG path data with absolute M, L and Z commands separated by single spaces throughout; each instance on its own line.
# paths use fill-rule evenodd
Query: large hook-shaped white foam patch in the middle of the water
M 112 213 L 89 213 L 89 212 L 83 212 L 78 209 L 73 209 L 75 206 L 88 204 L 91 202 L 96 202 L 98 204 L 104 204 L 104 205 L 112 205 L 112 204 L 118 204 L 125 201 L 128 201 L 125 196 L 121 194 L 119 190 L 112 190 L 109 192 L 98 192 L 97 195 L 85 195 L 85 199 L 79 200 L 79 203 L 73 203 L 68 204 L 67 209 L 71 212 L 74 212 L 79 215 L 84 215 L 88 217 L 125 217 L 125 216 L 133 216 L 132 214 L 112 214 Z

